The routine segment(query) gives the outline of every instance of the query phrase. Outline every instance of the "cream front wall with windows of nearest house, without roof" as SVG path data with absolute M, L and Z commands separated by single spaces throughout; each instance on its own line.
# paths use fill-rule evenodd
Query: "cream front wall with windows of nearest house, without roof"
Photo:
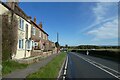
M 18 16 L 18 43 L 16 55 L 13 58 L 20 59 L 30 57 L 32 50 L 31 42 L 31 24 L 22 17 Z

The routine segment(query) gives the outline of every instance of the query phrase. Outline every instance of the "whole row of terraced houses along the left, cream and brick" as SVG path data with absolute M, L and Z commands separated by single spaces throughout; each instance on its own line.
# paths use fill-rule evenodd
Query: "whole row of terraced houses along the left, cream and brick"
M 48 39 L 49 35 L 43 30 L 42 22 L 38 25 L 36 23 L 37 18 L 34 17 L 32 20 L 31 17 L 27 16 L 19 7 L 17 2 L 0 2 L 0 9 L 0 15 L 2 15 L 2 17 L 7 15 L 7 22 L 11 21 L 11 16 L 15 16 L 18 22 L 17 34 L 13 31 L 13 34 L 17 35 L 18 41 L 15 54 L 11 55 L 12 59 L 56 53 L 57 48 L 55 43 Z M 3 34 L 5 34 L 4 29 L 6 30 L 5 27 L 2 27 Z

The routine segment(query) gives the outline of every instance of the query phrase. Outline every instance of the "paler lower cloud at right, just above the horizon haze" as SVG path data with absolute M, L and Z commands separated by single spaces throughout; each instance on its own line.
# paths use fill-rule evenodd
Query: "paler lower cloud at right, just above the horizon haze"
M 99 28 L 89 31 L 87 34 L 93 35 L 93 40 L 118 38 L 118 19 L 106 22 Z

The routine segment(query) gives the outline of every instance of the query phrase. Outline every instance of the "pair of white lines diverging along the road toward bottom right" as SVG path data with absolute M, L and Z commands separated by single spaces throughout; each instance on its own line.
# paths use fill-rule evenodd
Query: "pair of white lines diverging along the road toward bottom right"
M 72 54 L 73 54 L 73 53 L 72 53 Z M 74 55 L 76 55 L 76 56 L 82 58 L 83 60 L 85 60 L 85 61 L 87 61 L 88 63 L 94 65 L 95 67 L 97 67 L 97 68 L 99 68 L 99 69 L 105 71 L 106 73 L 108 73 L 108 74 L 114 76 L 115 78 L 120 79 L 119 76 L 116 76 L 116 75 L 114 75 L 113 73 L 109 72 L 108 70 L 105 70 L 104 68 L 102 68 L 102 67 L 96 65 L 96 64 L 99 64 L 99 63 L 97 63 L 97 62 L 95 62 L 95 61 L 92 61 L 92 60 L 90 60 L 90 59 L 88 59 L 88 58 L 84 58 L 84 57 L 82 57 L 82 56 L 80 56 L 80 55 L 77 55 L 77 54 L 74 54 Z M 95 64 L 95 63 L 96 63 L 96 64 Z M 102 65 L 102 64 L 99 64 L 99 65 L 101 65 L 101 66 L 103 66 L 103 67 L 106 67 L 107 69 L 110 69 L 110 70 L 112 70 L 113 72 L 119 73 L 118 71 L 116 71 L 116 70 L 114 70 L 114 69 L 111 69 L 111 68 L 109 68 L 109 67 L 107 67 L 107 66 L 104 66 L 104 65 Z

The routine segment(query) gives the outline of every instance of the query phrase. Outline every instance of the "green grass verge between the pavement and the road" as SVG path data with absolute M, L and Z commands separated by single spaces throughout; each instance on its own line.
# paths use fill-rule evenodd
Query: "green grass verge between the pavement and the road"
M 27 78 L 57 78 L 61 65 L 66 57 L 66 53 L 62 52 L 53 58 L 46 66 L 39 69 L 39 71 L 30 74 Z

